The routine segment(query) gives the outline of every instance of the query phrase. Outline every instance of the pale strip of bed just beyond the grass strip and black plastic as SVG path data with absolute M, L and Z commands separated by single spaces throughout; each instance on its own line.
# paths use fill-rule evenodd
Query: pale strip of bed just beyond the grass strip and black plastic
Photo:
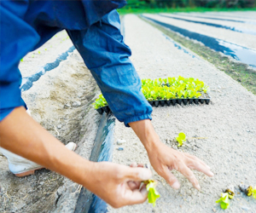
M 245 34 L 242 32 L 232 32 L 223 28 L 218 28 L 214 26 L 206 26 L 195 23 L 188 23 L 184 20 L 173 20 L 170 18 L 162 17 L 158 14 L 143 14 L 146 17 L 152 18 L 154 20 L 159 20 L 164 23 L 170 24 L 172 26 L 178 26 L 180 28 L 186 29 L 190 32 L 197 32 L 208 37 L 215 37 L 222 39 L 226 42 L 236 43 L 248 49 L 256 50 L 256 36 Z

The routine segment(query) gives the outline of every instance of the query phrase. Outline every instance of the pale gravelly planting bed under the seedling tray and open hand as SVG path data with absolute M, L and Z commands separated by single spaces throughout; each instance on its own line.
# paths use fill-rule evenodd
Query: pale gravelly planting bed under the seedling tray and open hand
M 215 176 L 209 178 L 195 171 L 201 184 L 197 192 L 182 175 L 173 171 L 181 183 L 177 191 L 159 181 L 161 198 L 156 207 L 139 204 L 110 212 L 224 212 L 215 204 L 222 189 L 230 184 L 236 187 L 236 196 L 225 212 L 255 212 L 256 201 L 239 194 L 241 182 L 256 186 L 256 97 L 224 72 L 205 60 L 192 58 L 183 50 L 137 16 L 125 17 L 125 42 L 132 49 L 134 65 L 141 78 L 183 76 L 200 78 L 211 88 L 212 101 L 207 105 L 154 108 L 153 124 L 162 142 L 180 152 L 191 153 L 211 166 Z M 199 57 L 199 56 L 198 56 Z M 234 67 L 236 69 L 236 67 Z M 181 148 L 172 140 L 179 132 L 189 138 Z M 195 139 L 204 137 L 205 139 Z M 141 142 L 131 129 L 117 122 L 113 162 L 120 164 L 148 163 Z M 124 147 L 124 151 L 116 148 Z

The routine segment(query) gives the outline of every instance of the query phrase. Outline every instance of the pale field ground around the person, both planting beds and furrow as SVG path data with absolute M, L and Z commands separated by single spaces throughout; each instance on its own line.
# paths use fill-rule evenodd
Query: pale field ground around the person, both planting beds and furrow
M 217 15 L 256 24 L 255 13 L 247 13 L 200 15 Z M 150 17 L 162 19 L 153 14 Z M 191 31 L 211 33 L 212 37 L 237 42 L 255 50 L 255 36 L 229 30 L 218 33 L 214 27 L 190 26 L 188 23 L 185 25 L 180 20 L 166 18 L 165 21 Z M 255 28 L 252 23 L 244 23 L 241 27 Z M 253 95 L 256 90 L 253 67 L 241 64 L 189 37 L 167 31 L 136 15 L 125 15 L 123 24 L 125 43 L 131 47 L 131 60 L 140 78 L 180 75 L 200 78 L 210 87 L 212 100 L 209 105 L 154 107 L 152 118 L 162 142 L 180 152 L 201 158 L 210 165 L 215 176 L 209 178 L 195 171 L 201 184 L 201 192 L 198 192 L 182 175 L 173 171 L 181 182 L 181 188 L 175 191 L 153 170 L 161 195 L 155 208 L 145 203 L 119 210 L 108 206 L 108 211 L 222 212 L 224 210 L 215 201 L 225 187 L 233 184 L 236 187 L 236 196 L 231 201 L 230 209 L 225 211 L 255 212 L 255 200 L 242 195 L 237 188 L 241 182 L 256 186 L 256 97 Z M 227 24 L 236 26 L 236 22 L 225 23 Z M 40 66 L 52 62 L 57 55 L 71 46 L 66 32 L 57 34 L 44 47 L 26 55 L 23 62 L 20 62 L 22 76 L 27 77 L 37 72 Z M 46 72 L 33 83 L 31 89 L 24 91 L 22 97 L 32 111 L 32 118 L 64 144 L 68 141 L 76 142 L 79 145 L 76 153 L 90 158 L 101 118 L 91 106 L 98 94 L 96 82 L 78 52 L 74 50 L 60 66 Z M 188 140 L 183 147 L 178 148 L 174 139 L 179 132 L 184 132 Z M 125 144 L 116 145 L 118 139 L 125 139 Z M 113 142 L 113 162 L 127 165 L 132 162 L 148 163 L 147 153 L 137 136 L 118 121 L 114 128 Z M 119 151 L 118 147 L 123 147 L 124 150 Z M 9 172 L 7 160 L 1 154 L 0 166 L 1 212 L 73 212 L 81 189 L 78 184 L 49 170 L 39 170 L 35 176 L 16 178 Z

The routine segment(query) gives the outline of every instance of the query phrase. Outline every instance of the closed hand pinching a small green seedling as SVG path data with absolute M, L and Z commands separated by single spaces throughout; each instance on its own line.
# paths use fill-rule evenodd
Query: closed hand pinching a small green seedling
M 131 167 L 136 167 L 131 165 Z M 140 188 L 138 181 L 147 181 L 152 173 L 145 168 L 131 168 L 109 162 L 95 163 L 86 188 L 114 208 L 142 204 L 148 198 L 146 186 Z M 89 185 L 89 186 L 87 186 Z

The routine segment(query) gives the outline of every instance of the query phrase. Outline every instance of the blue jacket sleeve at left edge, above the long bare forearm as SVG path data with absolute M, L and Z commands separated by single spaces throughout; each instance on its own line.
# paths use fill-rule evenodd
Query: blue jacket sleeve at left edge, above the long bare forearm
M 18 66 L 39 40 L 37 32 L 23 20 L 27 7 L 27 1 L 3 1 L 0 5 L 0 121 L 15 107 L 26 107 Z

